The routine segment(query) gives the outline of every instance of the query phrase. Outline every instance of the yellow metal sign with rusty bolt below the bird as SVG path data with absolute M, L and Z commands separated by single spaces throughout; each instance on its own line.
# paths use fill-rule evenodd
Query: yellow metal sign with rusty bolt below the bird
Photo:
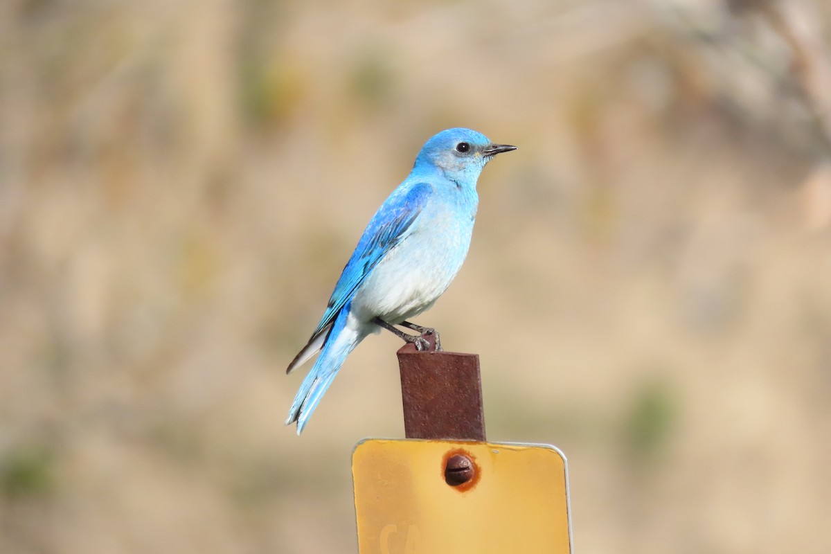
M 352 454 L 360 554 L 567 554 L 553 446 L 367 439 Z

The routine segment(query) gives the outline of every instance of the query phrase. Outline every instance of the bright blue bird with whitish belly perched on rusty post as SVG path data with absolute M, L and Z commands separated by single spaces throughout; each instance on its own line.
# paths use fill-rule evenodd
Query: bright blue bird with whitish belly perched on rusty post
M 408 320 L 430 308 L 459 272 L 479 204 L 476 179 L 494 155 L 510 150 L 516 146 L 494 145 L 461 128 L 441 131 L 421 149 L 410 175 L 366 226 L 312 338 L 288 365 L 287 374 L 321 351 L 288 412 L 286 424 L 297 422 L 297 434 L 347 355 L 370 333 L 383 328 L 427 350 L 423 336 L 435 331 Z

